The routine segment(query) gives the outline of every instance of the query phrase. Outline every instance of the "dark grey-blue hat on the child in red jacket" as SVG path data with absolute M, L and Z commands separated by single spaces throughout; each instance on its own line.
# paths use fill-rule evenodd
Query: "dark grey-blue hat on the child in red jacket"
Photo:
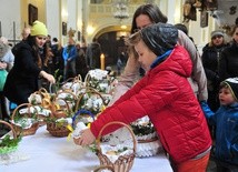
M 161 55 L 172 50 L 178 40 L 178 30 L 172 24 L 156 23 L 141 30 L 146 45 L 156 54 Z

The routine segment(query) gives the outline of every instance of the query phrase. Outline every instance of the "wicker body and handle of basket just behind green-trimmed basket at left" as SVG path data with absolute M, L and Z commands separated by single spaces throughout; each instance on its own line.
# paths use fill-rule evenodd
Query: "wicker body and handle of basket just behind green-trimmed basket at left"
M 16 131 L 16 133 L 17 133 L 17 135 L 19 135 L 19 134 L 21 134 L 22 136 L 26 136 L 26 135 L 32 135 L 32 134 L 34 134 L 36 132 L 37 132 L 37 130 L 38 130 L 38 128 L 39 128 L 39 121 L 38 121 L 38 119 L 37 119 L 37 122 L 34 122 L 30 128 L 28 128 L 28 129 L 22 129 L 22 127 L 19 127 L 19 125 L 16 125 L 14 124 L 14 118 L 16 118 L 16 114 L 17 113 L 19 113 L 19 110 L 22 108 L 22 107 L 27 107 L 28 108 L 28 113 L 26 113 L 26 114 L 20 114 L 21 115 L 21 118 L 24 118 L 24 119 L 30 119 L 30 118 L 32 118 L 32 115 L 33 115 L 33 113 L 31 113 L 30 112 L 30 108 L 32 107 L 32 108 L 34 108 L 32 104 L 30 104 L 30 103 L 23 103 L 23 104 L 20 104 L 20 105 L 18 105 L 16 109 L 14 109 L 14 111 L 13 111 L 13 113 L 12 113 L 12 115 L 11 115 L 11 121 L 12 121 L 12 127 L 13 127 L 13 129 L 14 129 L 14 131 Z M 36 118 L 38 118 L 38 111 L 37 111 L 37 109 L 34 108 L 34 111 L 36 111 Z

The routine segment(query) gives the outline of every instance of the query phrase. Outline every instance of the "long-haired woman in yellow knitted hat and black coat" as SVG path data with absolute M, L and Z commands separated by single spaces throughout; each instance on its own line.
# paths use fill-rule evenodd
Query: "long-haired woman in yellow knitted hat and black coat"
M 13 48 L 14 65 L 8 74 L 3 94 L 18 105 L 27 103 L 30 94 L 39 90 L 40 77 L 51 83 L 56 82 L 53 75 L 41 69 L 43 62 L 40 58 L 40 49 L 46 43 L 47 34 L 46 26 L 40 21 L 34 21 L 27 40 Z

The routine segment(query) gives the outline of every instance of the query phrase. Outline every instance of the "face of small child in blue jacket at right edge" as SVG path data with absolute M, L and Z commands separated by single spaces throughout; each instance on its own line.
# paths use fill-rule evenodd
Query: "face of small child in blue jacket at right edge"
M 232 93 L 230 92 L 230 89 L 228 88 L 220 89 L 219 101 L 221 105 L 229 105 L 236 102 L 236 100 L 232 97 Z

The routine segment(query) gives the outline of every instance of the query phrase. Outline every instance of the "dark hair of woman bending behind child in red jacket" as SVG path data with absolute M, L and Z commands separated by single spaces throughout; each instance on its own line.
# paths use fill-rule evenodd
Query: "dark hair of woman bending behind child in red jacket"
M 131 30 L 130 32 L 133 33 L 137 28 L 136 19 L 140 14 L 146 14 L 149 19 L 155 22 L 163 22 L 168 21 L 168 18 L 160 11 L 159 7 L 152 3 L 141 4 L 133 13 Z

